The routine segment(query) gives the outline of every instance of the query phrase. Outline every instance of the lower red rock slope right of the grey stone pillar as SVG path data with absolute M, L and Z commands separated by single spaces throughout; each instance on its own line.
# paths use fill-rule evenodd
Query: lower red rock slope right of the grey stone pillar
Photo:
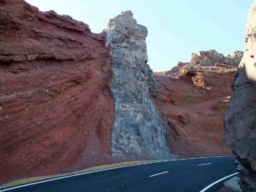
M 192 55 L 190 63 L 179 62 L 170 72 L 154 74 L 160 95 L 154 100 L 168 124 L 169 146 L 183 157 L 231 154 L 222 141 L 222 119 L 236 68 L 233 62 L 221 63 L 216 51 L 201 55 L 210 58 L 211 66 L 201 66 Z

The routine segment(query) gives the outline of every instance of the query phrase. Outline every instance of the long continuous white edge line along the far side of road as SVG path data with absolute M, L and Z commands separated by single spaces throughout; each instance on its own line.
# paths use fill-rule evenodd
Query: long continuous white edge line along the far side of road
M 142 165 L 147 165 L 147 164 L 172 162 L 172 161 L 178 161 L 178 160 L 196 160 L 196 159 L 224 158 L 224 157 L 234 157 L 234 156 L 233 155 L 224 155 L 224 156 L 213 156 L 213 157 L 193 157 L 193 158 L 188 158 L 188 159 L 177 159 L 177 160 L 158 160 L 158 161 L 147 162 L 147 163 L 133 164 L 133 165 L 130 165 L 130 166 L 142 166 Z M 43 180 L 43 181 L 21 184 L 21 185 L 15 186 L 15 187 L 7 188 L 7 189 L 0 189 L 0 192 L 9 191 L 9 190 L 12 190 L 12 189 L 19 189 L 19 188 L 31 186 L 31 185 L 38 184 L 38 183 L 47 183 L 47 182 L 50 182 L 50 181 L 60 180 L 62 178 L 76 177 L 76 176 L 80 176 L 80 175 L 87 175 L 87 174 L 90 174 L 90 173 L 93 173 L 93 172 L 104 172 L 104 171 L 108 171 L 108 170 L 120 169 L 120 168 L 125 168 L 125 167 L 130 167 L 130 166 L 117 166 L 117 167 L 108 168 L 108 169 L 100 169 L 100 170 L 96 170 L 96 171 L 92 171 L 92 172 L 82 172 L 82 173 L 76 173 L 76 174 L 71 174 L 71 175 L 62 176 L 62 177 L 54 177 L 54 178 L 49 178 L 49 179 L 46 179 L 46 180 Z

